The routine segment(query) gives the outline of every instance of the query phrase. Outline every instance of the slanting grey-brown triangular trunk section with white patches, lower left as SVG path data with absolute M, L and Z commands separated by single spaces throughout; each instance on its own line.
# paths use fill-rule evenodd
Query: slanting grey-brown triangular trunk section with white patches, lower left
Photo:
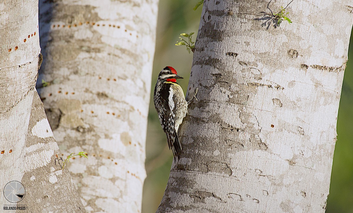
M 26 205 L 27 211 L 86 212 L 70 172 L 66 167 L 61 169 L 60 157 L 43 103 L 35 91 L 26 136 L 25 173 L 20 181 L 26 189 L 20 204 Z

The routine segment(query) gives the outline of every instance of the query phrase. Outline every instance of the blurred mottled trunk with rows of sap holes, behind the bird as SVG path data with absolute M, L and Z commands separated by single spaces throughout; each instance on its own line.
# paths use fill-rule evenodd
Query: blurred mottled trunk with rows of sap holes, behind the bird
M 88 212 L 140 212 L 157 0 L 40 2 L 39 94 Z M 40 83 L 40 82 L 39 82 Z

